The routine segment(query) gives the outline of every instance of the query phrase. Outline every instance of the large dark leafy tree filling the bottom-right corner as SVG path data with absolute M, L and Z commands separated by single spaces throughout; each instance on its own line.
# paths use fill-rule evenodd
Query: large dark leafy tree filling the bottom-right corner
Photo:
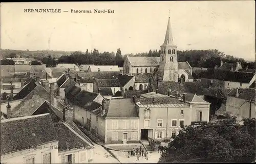
M 164 148 L 159 163 L 255 160 L 255 119 L 244 121 L 244 125 L 236 124 L 235 119 L 228 116 L 217 123 L 183 127 Z

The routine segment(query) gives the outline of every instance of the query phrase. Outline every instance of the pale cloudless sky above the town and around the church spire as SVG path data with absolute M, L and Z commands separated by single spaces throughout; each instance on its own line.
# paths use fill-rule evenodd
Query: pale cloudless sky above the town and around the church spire
M 159 50 L 168 16 L 178 50 L 218 49 L 255 60 L 254 1 L 1 3 L 1 49 L 116 52 L 120 48 L 123 55 Z

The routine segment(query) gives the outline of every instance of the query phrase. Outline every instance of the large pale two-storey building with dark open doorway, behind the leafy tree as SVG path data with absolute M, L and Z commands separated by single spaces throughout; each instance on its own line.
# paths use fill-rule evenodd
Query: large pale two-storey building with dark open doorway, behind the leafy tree
M 209 103 L 195 94 L 177 99 L 156 92 L 145 93 L 136 100 L 140 138 L 160 141 L 176 136 L 184 125 L 209 121 Z

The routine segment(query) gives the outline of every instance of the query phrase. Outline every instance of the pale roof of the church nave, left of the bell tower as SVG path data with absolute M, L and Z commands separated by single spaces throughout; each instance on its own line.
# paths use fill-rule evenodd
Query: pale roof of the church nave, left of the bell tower
M 160 57 L 127 56 L 133 66 L 157 66 Z

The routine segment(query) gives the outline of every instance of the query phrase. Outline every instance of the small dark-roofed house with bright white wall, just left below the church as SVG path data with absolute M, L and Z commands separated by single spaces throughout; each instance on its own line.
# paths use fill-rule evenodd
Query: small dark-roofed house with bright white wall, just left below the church
M 113 96 L 117 91 L 121 91 L 121 84 L 118 79 L 95 79 L 93 91 L 99 92 L 103 88 L 110 88 Z

